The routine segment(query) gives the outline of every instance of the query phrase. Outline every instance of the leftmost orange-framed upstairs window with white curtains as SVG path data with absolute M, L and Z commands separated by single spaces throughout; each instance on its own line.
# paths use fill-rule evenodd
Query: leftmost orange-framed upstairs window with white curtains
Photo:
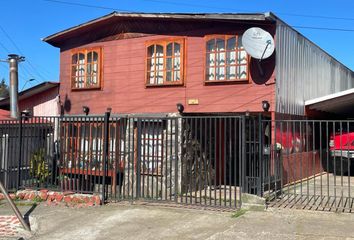
M 80 49 L 71 55 L 72 89 L 101 87 L 101 49 Z

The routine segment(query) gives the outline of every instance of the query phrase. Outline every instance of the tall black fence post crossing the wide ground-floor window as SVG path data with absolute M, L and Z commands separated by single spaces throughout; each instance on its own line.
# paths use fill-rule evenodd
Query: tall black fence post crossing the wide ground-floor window
M 103 178 L 102 178 L 102 203 L 106 200 L 106 176 L 108 167 L 109 155 L 109 117 L 111 112 L 105 112 L 103 125 Z

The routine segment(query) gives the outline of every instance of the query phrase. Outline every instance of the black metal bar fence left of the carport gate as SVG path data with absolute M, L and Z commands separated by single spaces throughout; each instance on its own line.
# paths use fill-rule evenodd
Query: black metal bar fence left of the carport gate
M 0 123 L 0 180 L 51 188 L 238 208 L 245 117 L 31 117 Z

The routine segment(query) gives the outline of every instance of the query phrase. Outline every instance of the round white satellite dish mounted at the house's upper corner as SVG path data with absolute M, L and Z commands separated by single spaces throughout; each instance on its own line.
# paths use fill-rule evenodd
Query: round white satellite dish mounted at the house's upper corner
M 272 35 L 259 27 L 246 30 L 242 36 L 242 45 L 249 55 L 259 59 L 259 61 L 269 58 L 274 52 Z

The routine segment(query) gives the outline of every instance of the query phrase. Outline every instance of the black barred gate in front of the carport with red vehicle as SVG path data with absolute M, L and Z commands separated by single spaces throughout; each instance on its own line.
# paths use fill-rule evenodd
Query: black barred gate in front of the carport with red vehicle
M 263 120 L 261 131 L 262 195 L 271 205 L 354 209 L 354 121 Z

